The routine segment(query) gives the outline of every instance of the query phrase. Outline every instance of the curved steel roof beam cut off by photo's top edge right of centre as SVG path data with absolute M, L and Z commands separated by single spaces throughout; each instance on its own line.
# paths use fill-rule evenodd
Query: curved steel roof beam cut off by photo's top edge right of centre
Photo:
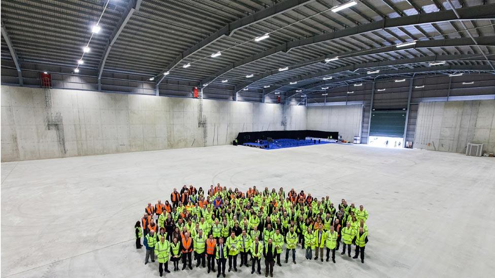
M 286 0 L 280 3 L 277 3 L 271 7 L 268 7 L 266 9 L 263 9 L 261 11 L 258 11 L 254 14 L 245 16 L 243 18 L 240 18 L 234 22 L 228 23 L 218 31 L 216 31 L 213 34 L 210 34 L 206 38 L 202 39 L 200 42 L 195 44 L 194 46 L 190 47 L 189 49 L 183 51 L 181 54 L 176 56 L 173 61 L 168 64 L 165 69 L 163 69 L 160 75 L 163 75 L 163 73 L 167 72 L 168 70 L 174 68 L 176 65 L 180 64 L 184 59 L 187 57 L 193 55 L 194 53 L 200 51 L 201 49 L 209 46 L 210 44 L 213 44 L 216 42 L 218 39 L 225 37 L 225 36 L 232 36 L 236 30 L 239 30 L 241 28 L 248 27 L 250 25 L 256 24 L 260 21 L 267 20 L 271 17 L 277 16 L 279 14 L 286 13 L 288 11 L 291 11 L 293 9 L 296 9 L 298 7 L 301 7 L 303 5 L 309 4 L 311 2 L 314 2 L 315 0 Z M 163 75 L 160 80 L 157 82 L 157 85 L 159 85 L 165 76 Z

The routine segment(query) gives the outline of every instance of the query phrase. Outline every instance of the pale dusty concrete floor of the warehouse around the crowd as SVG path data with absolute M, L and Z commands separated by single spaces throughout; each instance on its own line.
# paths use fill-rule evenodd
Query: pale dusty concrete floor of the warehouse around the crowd
M 495 158 L 326 144 L 217 146 L 2 164 L 2 276 L 155 277 L 133 225 L 148 202 L 194 184 L 284 186 L 363 204 L 365 264 L 306 261 L 275 276 L 481 277 L 495 272 Z M 322 272 L 325 271 L 325 272 Z M 183 274 L 184 272 L 180 272 Z M 180 273 L 166 276 L 181 276 Z M 200 276 L 206 270 L 186 273 Z M 230 277 L 251 271 L 242 268 Z M 209 276 L 214 277 L 213 274 Z

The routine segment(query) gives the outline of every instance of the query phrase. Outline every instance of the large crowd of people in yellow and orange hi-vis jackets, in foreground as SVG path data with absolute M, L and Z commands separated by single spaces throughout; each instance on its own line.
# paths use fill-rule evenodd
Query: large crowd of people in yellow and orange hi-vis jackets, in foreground
M 249 267 L 251 273 L 261 274 L 261 258 L 265 263 L 265 276 L 273 276 L 275 263 L 281 266 L 280 256 L 284 251 L 285 263 L 290 255 L 296 264 L 296 248 L 305 250 L 305 258 L 330 258 L 335 263 L 335 252 L 351 256 L 351 245 L 355 245 L 353 258 L 361 258 L 368 242 L 368 212 L 363 206 L 350 205 L 342 199 L 337 207 L 330 197 L 321 200 L 301 190 L 292 188 L 287 194 L 283 188 L 278 192 L 256 186 L 246 192 L 237 188 L 211 185 L 207 192 L 184 185 L 173 189 L 170 202 L 160 200 L 145 208 L 145 214 L 135 224 L 136 248 L 146 247 L 145 264 L 158 258 L 159 273 L 169 273 L 168 261 L 173 270 L 192 269 L 192 258 L 196 267 L 207 267 L 207 272 L 216 272 L 225 277 L 228 271 Z M 141 238 L 144 235 L 143 245 Z M 326 249 L 326 254 L 325 254 Z M 249 258 L 248 258 L 249 256 Z

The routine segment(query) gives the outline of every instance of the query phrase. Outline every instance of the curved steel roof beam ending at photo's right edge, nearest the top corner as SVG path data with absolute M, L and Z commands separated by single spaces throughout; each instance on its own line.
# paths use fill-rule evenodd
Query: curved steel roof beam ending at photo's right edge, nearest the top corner
M 214 76 L 208 77 L 201 81 L 201 84 L 207 84 L 215 81 L 221 75 L 231 71 L 236 67 L 243 66 L 245 64 L 252 63 L 254 61 L 269 57 L 279 52 L 289 52 L 291 49 L 314 45 L 317 43 L 331 41 L 332 39 L 343 38 L 352 35 L 359 35 L 372 31 L 378 31 L 386 28 L 393 27 L 405 27 L 418 24 L 432 24 L 454 20 L 495 20 L 495 4 L 474 6 L 469 8 L 457 9 L 456 12 L 461 16 L 461 19 L 457 18 L 452 10 L 440 11 L 428 14 L 417 14 L 412 16 L 403 16 L 396 18 L 384 18 L 383 20 L 351 27 L 343 30 L 338 30 L 331 33 L 312 36 L 309 38 L 299 39 L 297 41 L 284 43 L 277 47 L 271 48 L 265 52 L 252 55 L 244 58 L 243 60 L 231 63 L 226 68 L 218 71 Z

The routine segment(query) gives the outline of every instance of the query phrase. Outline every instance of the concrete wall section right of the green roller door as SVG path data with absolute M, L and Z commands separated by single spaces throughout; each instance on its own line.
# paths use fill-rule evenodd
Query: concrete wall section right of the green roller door
M 414 148 L 463 153 L 469 142 L 495 152 L 495 100 L 419 104 Z

